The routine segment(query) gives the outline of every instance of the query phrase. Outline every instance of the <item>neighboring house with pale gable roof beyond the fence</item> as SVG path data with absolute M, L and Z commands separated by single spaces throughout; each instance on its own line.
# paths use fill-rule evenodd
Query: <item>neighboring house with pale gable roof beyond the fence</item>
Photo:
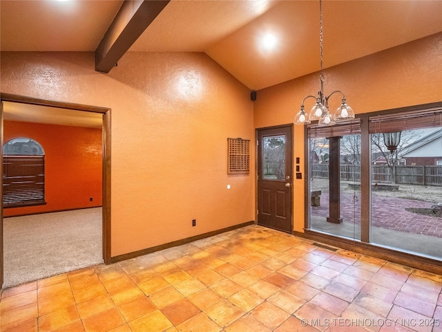
M 408 166 L 442 166 L 442 129 L 436 129 L 401 151 Z

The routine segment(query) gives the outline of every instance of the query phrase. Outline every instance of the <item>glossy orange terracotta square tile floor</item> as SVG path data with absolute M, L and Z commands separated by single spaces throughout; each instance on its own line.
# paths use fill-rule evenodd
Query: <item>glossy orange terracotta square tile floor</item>
M 442 276 L 247 226 L 1 294 L 0 330 L 442 331 Z

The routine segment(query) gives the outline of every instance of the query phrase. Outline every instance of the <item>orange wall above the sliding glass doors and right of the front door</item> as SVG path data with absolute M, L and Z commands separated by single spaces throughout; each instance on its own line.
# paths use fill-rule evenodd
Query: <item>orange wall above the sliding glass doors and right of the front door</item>
M 324 92 L 341 90 L 355 113 L 368 113 L 442 101 L 442 33 L 390 48 L 374 55 L 325 69 Z M 318 59 L 319 61 L 319 59 Z M 325 62 L 327 56 L 325 56 Z M 291 123 L 306 95 L 320 89 L 318 73 L 258 91 L 254 104 L 256 128 Z M 334 111 L 340 98 L 329 106 Z M 310 110 L 314 101 L 308 100 Z M 294 157 L 300 157 L 304 169 L 304 127 L 294 129 Z M 305 182 L 294 180 L 294 229 L 304 228 Z

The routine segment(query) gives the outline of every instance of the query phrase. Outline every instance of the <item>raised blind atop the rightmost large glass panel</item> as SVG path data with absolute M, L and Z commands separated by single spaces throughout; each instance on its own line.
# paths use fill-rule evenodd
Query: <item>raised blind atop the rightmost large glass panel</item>
M 442 107 L 369 117 L 370 133 L 392 133 L 395 131 L 441 126 Z

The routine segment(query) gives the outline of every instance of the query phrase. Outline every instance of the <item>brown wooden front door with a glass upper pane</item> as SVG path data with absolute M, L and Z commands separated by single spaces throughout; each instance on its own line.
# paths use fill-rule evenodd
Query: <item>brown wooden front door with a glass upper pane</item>
M 258 225 L 291 233 L 292 125 L 258 129 Z

